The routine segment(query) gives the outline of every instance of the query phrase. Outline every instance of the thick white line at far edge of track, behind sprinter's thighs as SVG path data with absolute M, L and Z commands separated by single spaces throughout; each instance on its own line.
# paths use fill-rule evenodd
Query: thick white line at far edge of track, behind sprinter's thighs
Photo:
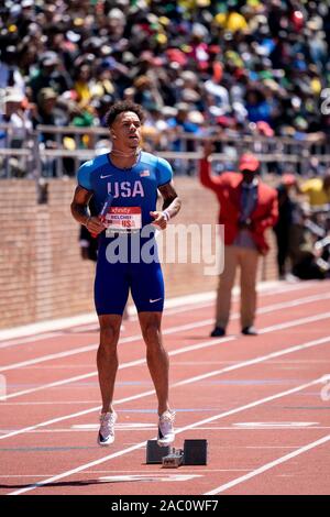
M 279 294 L 292 293 L 296 290 L 306 290 L 308 287 L 316 287 L 318 283 L 316 283 L 315 280 L 294 284 L 294 285 L 283 284 L 282 282 L 280 283 L 279 282 L 261 282 L 257 285 L 257 292 L 263 297 L 265 297 L 265 296 L 274 296 L 274 295 L 279 295 Z M 239 288 L 238 286 L 234 286 L 233 297 L 238 298 L 238 296 L 239 296 Z M 170 300 L 168 300 L 168 302 L 165 301 L 164 316 L 167 317 L 170 315 L 177 315 L 179 312 L 198 310 L 199 308 L 208 307 L 215 302 L 216 293 L 211 292 L 211 293 L 202 293 L 202 294 L 197 294 L 197 295 L 189 295 L 188 304 L 183 302 L 185 298 L 187 297 L 172 298 Z M 208 300 L 208 301 L 199 304 L 198 302 L 199 299 Z M 177 307 L 168 308 L 168 306 L 172 307 L 173 305 L 176 305 Z M 180 305 L 184 305 L 184 306 L 180 306 Z M 85 328 L 84 324 L 81 327 L 77 327 L 78 324 L 77 321 L 84 322 L 84 323 L 90 321 L 94 324 L 98 324 L 98 319 L 97 319 L 96 314 L 89 312 L 87 315 L 80 315 L 78 317 L 43 321 L 38 323 L 28 324 L 24 327 L 15 327 L 13 329 L 0 330 L 0 349 L 15 346 L 16 344 L 24 344 L 25 342 L 30 343 L 31 341 L 40 341 L 45 338 L 58 337 L 58 336 L 65 334 L 65 332 L 63 331 L 67 329 L 73 329 L 73 330 L 77 330 L 79 328 L 84 329 Z M 138 317 L 133 317 L 132 321 L 138 321 Z M 46 331 L 50 331 L 50 333 L 35 336 L 38 332 L 46 332 Z M 32 334 L 32 338 L 29 338 L 29 336 L 31 334 Z M 19 337 L 20 339 L 15 339 Z M 10 339 L 10 341 L 3 341 L 4 339 Z

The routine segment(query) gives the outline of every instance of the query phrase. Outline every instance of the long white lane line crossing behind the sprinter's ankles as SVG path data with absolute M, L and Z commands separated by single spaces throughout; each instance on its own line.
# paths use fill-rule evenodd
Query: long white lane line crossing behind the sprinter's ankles
M 282 350 L 282 351 L 278 351 L 278 352 L 273 352 L 273 353 L 267 354 L 267 355 L 257 356 L 255 359 L 244 361 L 244 362 L 241 362 L 241 363 L 238 363 L 238 364 L 233 364 L 233 365 L 224 367 L 222 370 L 216 370 L 213 372 L 208 372 L 204 375 L 197 375 L 197 376 L 194 376 L 194 377 L 186 378 L 184 381 L 179 381 L 177 383 L 174 383 L 172 385 L 172 388 L 178 387 L 178 386 L 185 386 L 186 384 L 193 384 L 193 383 L 202 381 L 205 378 L 209 378 L 211 376 L 217 376 L 217 375 L 221 375 L 222 373 L 232 372 L 234 370 L 251 366 L 253 364 L 257 364 L 257 363 L 267 361 L 268 359 L 272 359 L 274 356 L 286 355 L 286 354 L 289 354 L 289 353 L 294 353 L 294 352 L 305 350 L 305 349 L 308 349 L 308 348 L 312 348 L 312 346 L 318 346 L 319 344 L 324 344 L 324 343 L 329 343 L 329 342 L 330 342 L 330 337 L 321 338 L 321 339 L 314 340 L 314 341 L 308 341 L 307 343 L 290 346 L 286 350 Z M 213 341 L 211 341 L 210 343 L 213 344 Z M 174 352 L 178 352 L 178 351 L 174 351 Z M 324 381 L 324 377 L 322 377 L 322 382 L 323 381 Z M 150 395 L 153 395 L 154 393 L 155 393 L 155 391 L 151 389 L 148 392 L 143 392 L 143 393 L 140 393 L 140 394 L 136 394 L 136 395 L 132 395 L 130 397 L 125 397 L 125 398 L 116 400 L 113 404 L 114 405 L 120 405 L 120 404 L 124 404 L 127 402 L 138 400 L 140 398 L 144 398 L 144 397 L 147 397 Z M 73 414 L 66 415 L 64 417 L 57 417 L 57 418 L 54 418 L 52 420 L 46 420 L 44 422 L 40 422 L 40 424 L 34 425 L 34 426 L 29 426 L 29 427 L 25 427 L 25 428 L 22 428 L 22 429 L 18 429 L 18 430 L 11 431 L 7 435 L 0 436 L 0 440 L 3 440 L 4 438 L 11 438 L 13 436 L 22 435 L 23 432 L 33 431 L 34 429 L 38 429 L 41 427 L 51 426 L 52 424 L 56 424 L 56 422 L 64 421 L 64 420 L 67 420 L 67 419 L 72 419 L 72 418 L 80 417 L 80 416 L 84 416 L 84 415 L 88 415 L 90 413 L 98 411 L 99 409 L 100 409 L 100 406 L 96 406 L 96 407 L 85 409 L 85 410 L 81 410 L 81 411 L 78 411 L 78 413 L 73 413 Z

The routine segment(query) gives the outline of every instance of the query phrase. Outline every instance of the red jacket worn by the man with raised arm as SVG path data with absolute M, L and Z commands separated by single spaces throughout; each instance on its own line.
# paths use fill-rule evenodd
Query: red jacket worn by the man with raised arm
M 241 173 L 223 173 L 221 176 L 211 175 L 208 160 L 200 161 L 201 184 L 213 190 L 220 204 L 219 223 L 224 224 L 224 244 L 234 242 L 239 232 L 241 212 L 241 191 L 243 175 Z M 260 253 L 265 254 L 270 246 L 265 240 L 265 230 L 273 227 L 278 218 L 277 193 L 258 179 L 257 204 L 250 216 L 251 237 Z

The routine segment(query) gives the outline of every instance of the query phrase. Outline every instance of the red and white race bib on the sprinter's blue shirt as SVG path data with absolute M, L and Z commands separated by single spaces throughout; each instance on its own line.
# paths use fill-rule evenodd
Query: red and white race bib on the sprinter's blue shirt
M 105 224 L 108 232 L 124 233 L 142 228 L 141 207 L 110 207 Z

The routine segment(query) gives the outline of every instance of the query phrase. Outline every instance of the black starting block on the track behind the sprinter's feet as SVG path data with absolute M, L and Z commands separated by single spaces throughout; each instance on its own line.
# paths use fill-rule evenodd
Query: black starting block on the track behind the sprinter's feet
M 184 449 L 160 447 L 156 440 L 147 440 L 146 463 L 163 464 L 164 469 L 177 469 L 180 465 L 207 465 L 208 441 L 185 440 Z

